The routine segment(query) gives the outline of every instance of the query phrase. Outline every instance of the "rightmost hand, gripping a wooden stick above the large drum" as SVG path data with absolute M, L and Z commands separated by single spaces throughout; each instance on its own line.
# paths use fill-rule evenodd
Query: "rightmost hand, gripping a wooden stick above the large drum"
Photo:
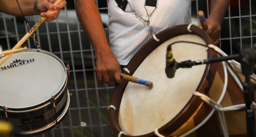
M 214 45 L 218 45 L 221 34 L 221 23 L 210 16 L 206 19 L 206 23 L 208 24 L 208 29 L 205 32 L 212 38 Z M 199 27 L 202 28 L 201 25 Z

